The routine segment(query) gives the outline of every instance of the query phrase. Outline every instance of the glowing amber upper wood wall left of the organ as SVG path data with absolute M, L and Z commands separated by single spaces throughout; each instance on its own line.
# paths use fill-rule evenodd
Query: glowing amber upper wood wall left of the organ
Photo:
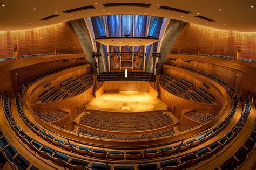
M 29 54 L 83 52 L 80 43 L 68 23 L 60 23 L 39 29 L 0 31 L 0 58 L 13 56 L 13 45 L 18 45 L 18 56 Z

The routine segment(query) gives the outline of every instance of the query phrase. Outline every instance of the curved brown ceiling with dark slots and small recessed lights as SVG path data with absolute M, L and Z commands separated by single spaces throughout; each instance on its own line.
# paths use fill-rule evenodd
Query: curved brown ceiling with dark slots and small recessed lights
M 1 0 L 0 0 L 1 1 Z M 127 3 L 125 0 L 84 1 L 84 0 L 2 0 L 0 4 L 0 30 L 35 29 L 73 19 L 101 15 L 138 14 L 160 16 L 171 19 L 183 20 L 198 25 L 215 29 L 256 32 L 256 1 L 255 0 L 130 0 L 129 3 L 148 4 L 144 7 L 116 6 L 105 7 L 105 3 Z M 76 12 L 63 12 L 70 9 L 89 6 L 86 10 Z M 159 9 L 165 6 L 169 9 Z M 253 8 L 251 7 L 253 6 Z M 171 8 L 171 9 L 170 9 Z M 188 12 L 177 12 L 174 9 Z M 220 10 L 219 10 L 220 9 Z M 198 14 L 199 13 L 199 14 Z M 49 20 L 42 18 L 59 15 Z M 205 19 L 214 20 L 208 22 Z

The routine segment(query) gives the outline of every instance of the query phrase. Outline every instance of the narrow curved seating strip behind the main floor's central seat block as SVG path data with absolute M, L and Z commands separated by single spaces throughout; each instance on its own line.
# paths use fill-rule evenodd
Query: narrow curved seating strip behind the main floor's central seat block
M 95 137 L 104 137 L 109 139 L 125 139 L 125 140 L 137 140 L 137 139 L 149 139 L 149 138 L 157 138 L 161 136 L 171 136 L 175 133 L 173 128 L 170 128 L 165 131 L 160 132 L 154 132 L 149 134 L 141 134 L 141 135 L 115 135 L 115 134 L 104 134 L 104 133 L 98 133 L 93 132 L 89 130 L 85 130 L 83 128 L 79 128 L 78 133 L 87 134 L 89 136 L 95 136 Z

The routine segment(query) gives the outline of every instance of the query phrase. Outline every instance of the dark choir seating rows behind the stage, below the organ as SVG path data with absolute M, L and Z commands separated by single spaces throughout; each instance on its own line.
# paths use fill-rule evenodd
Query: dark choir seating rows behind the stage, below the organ
M 98 82 L 102 81 L 149 81 L 155 82 L 156 75 L 146 72 L 128 72 L 125 78 L 125 72 L 102 72 L 97 75 Z

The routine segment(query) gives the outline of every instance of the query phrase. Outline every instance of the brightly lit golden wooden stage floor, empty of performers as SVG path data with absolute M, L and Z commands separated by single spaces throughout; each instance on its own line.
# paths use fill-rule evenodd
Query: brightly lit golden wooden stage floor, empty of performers
M 119 91 L 104 93 L 102 96 L 93 98 L 86 107 L 112 112 L 143 112 L 165 110 L 167 105 L 147 92 Z

